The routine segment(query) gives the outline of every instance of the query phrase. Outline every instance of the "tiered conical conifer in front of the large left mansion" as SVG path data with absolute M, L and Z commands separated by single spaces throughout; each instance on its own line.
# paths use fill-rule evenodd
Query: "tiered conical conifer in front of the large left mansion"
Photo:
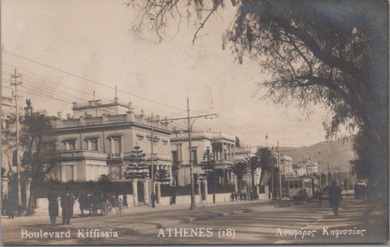
M 130 155 L 130 163 L 128 163 L 125 172 L 127 179 L 143 179 L 148 177 L 148 165 L 146 164 L 145 156 L 146 154 L 144 154 L 140 146 L 133 148 L 132 154 Z

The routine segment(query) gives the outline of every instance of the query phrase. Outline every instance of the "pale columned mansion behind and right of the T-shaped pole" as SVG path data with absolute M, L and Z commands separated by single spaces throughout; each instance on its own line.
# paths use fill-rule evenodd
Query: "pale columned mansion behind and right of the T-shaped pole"
M 191 183 L 188 132 L 175 131 L 170 136 L 170 143 L 173 160 L 173 184 L 188 185 Z M 201 169 L 201 162 L 207 149 L 210 149 L 215 157 L 216 180 L 220 184 L 233 183 L 234 174 L 228 172 L 227 169 L 229 164 L 234 162 L 234 136 L 222 132 L 192 132 L 191 143 L 195 183 L 204 174 L 204 170 Z

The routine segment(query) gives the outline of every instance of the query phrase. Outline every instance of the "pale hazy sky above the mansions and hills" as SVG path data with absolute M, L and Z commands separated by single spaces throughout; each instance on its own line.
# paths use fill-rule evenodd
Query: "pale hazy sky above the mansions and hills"
M 20 94 L 49 115 L 72 113 L 71 103 L 93 100 L 94 91 L 96 99 L 112 100 L 117 86 L 121 102 L 162 118 L 185 117 L 188 97 L 192 116 L 218 114 L 196 120 L 195 131 L 226 132 L 244 145 L 326 141 L 321 106 L 312 106 L 307 118 L 300 109 L 254 96 L 269 75 L 249 58 L 241 65 L 222 50 L 221 35 L 233 17 L 231 6 L 218 11 L 195 45 L 195 19 L 182 19 L 179 32 L 173 20 L 158 43 L 147 28 L 131 31 L 140 14 L 126 0 L 2 0 L 1 94 L 11 94 L 9 78 L 17 67 L 23 73 Z

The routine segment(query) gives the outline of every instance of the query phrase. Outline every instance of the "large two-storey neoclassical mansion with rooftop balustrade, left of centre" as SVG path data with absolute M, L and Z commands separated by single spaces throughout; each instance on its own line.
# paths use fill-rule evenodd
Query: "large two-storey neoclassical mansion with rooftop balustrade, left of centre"
M 89 101 L 87 105 L 73 104 L 73 116 L 52 121 L 59 153 L 58 167 L 51 176 L 61 181 L 97 180 L 102 174 L 111 180 L 124 180 L 133 148 L 140 146 L 146 154 L 151 176 L 153 155 L 155 169 L 172 173 L 170 134 L 167 124 L 134 112 L 131 103 Z M 154 145 L 152 154 L 151 145 Z

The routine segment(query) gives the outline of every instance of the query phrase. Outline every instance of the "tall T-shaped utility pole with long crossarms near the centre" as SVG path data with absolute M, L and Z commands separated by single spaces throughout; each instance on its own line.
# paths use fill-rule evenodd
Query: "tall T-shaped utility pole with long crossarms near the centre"
M 191 145 L 191 131 L 192 131 L 192 125 L 194 124 L 195 120 L 201 117 L 218 117 L 217 114 L 207 114 L 207 115 L 201 115 L 201 116 L 195 116 L 190 117 L 190 100 L 187 97 L 187 117 L 186 118 L 174 118 L 174 119 L 164 119 L 161 120 L 161 123 L 172 123 L 175 120 L 187 120 L 187 127 L 188 127 L 188 143 L 190 148 L 190 176 L 191 176 L 191 206 L 190 210 L 193 210 L 196 208 L 195 203 L 195 190 L 194 190 L 194 173 L 193 173 L 193 159 L 192 159 L 192 145 Z M 191 119 L 194 119 L 194 121 L 191 123 Z

